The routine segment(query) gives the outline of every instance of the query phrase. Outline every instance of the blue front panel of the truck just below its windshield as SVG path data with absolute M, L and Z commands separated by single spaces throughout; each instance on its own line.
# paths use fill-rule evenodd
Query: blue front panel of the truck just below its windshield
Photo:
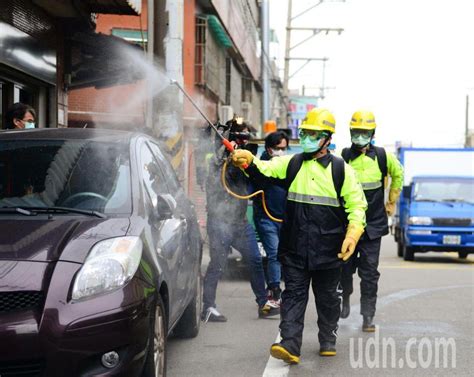
M 410 216 L 431 218 L 470 218 L 474 206 L 455 202 L 413 202 Z

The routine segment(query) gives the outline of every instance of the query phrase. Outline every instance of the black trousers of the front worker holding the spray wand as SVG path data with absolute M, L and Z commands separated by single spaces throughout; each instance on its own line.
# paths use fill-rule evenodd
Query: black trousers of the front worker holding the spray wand
M 282 265 L 282 274 L 285 290 L 281 303 L 281 344 L 293 355 L 300 355 L 310 283 L 318 312 L 319 343 L 335 343 L 341 314 L 338 291 L 341 268 L 308 271 Z

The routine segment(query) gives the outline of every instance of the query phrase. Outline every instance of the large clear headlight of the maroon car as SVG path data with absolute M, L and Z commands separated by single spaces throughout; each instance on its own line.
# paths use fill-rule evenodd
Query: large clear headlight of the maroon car
M 72 299 L 97 295 L 128 283 L 140 265 L 142 249 L 138 237 L 110 238 L 95 244 L 76 276 Z

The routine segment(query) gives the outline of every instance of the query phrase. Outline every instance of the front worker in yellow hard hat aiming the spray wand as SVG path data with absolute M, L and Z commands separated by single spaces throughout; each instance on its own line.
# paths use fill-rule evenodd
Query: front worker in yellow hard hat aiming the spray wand
M 234 165 L 247 167 L 250 176 L 280 178 L 288 188 L 278 246 L 285 281 L 282 339 L 270 353 L 289 364 L 300 361 L 310 284 L 318 312 L 319 354 L 336 354 L 341 265 L 355 250 L 365 226 L 367 202 L 355 172 L 328 151 L 334 132 L 331 112 L 315 108 L 299 127 L 303 153 L 269 161 L 242 150 L 232 154 Z

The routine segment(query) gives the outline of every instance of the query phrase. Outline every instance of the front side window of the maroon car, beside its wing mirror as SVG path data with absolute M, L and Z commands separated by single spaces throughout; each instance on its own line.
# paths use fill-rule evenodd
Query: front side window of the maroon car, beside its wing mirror
M 167 194 L 169 190 L 166 186 L 165 175 L 146 143 L 142 144 L 140 150 L 140 162 L 146 195 L 153 206 L 156 206 L 158 195 Z

